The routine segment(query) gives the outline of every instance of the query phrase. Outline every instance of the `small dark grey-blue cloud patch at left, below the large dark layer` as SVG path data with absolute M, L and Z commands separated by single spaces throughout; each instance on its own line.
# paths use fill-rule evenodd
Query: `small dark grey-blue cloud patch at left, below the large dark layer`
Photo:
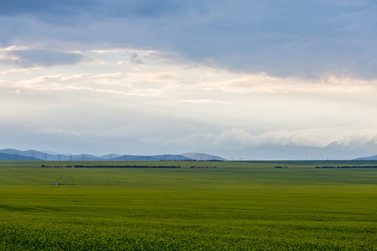
M 51 50 L 15 50 L 8 52 L 0 61 L 23 68 L 33 66 L 56 66 L 75 64 L 84 59 L 84 56 L 75 53 L 57 52 Z

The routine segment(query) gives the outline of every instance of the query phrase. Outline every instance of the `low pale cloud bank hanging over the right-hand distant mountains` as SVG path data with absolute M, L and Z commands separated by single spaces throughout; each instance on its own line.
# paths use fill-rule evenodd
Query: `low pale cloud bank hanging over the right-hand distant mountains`
M 339 141 L 339 144 L 356 147 L 369 141 L 377 142 L 377 134 L 374 130 L 354 130 L 338 127 L 272 130 L 261 134 L 251 134 L 244 129 L 232 128 L 230 130 L 223 130 L 219 134 L 212 132 L 193 133 L 175 139 L 151 137 L 142 139 L 142 141 L 165 146 L 179 144 L 193 148 L 200 146 L 207 149 L 242 149 L 249 146 L 268 144 L 323 147 L 337 141 Z

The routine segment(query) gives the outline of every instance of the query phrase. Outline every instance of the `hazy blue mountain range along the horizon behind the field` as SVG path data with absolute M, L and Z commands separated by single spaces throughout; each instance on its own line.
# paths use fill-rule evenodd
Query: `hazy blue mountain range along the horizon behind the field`
M 325 147 L 269 144 L 237 150 L 202 149 L 197 153 L 163 155 L 110 153 L 96 156 L 87 153 L 71 155 L 53 151 L 2 149 L 0 160 L 376 160 L 376 154 L 377 144 L 368 141 L 363 144 L 332 142 Z

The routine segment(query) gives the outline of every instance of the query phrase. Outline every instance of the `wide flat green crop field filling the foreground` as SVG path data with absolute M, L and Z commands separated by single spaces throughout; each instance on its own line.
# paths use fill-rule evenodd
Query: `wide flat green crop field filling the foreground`
M 0 162 L 0 250 L 377 250 L 375 165 Z

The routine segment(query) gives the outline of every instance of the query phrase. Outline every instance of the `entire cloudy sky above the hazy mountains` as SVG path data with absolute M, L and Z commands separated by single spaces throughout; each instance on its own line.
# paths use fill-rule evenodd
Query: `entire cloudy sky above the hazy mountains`
M 0 23 L 0 149 L 377 139 L 376 1 L 6 0 Z

